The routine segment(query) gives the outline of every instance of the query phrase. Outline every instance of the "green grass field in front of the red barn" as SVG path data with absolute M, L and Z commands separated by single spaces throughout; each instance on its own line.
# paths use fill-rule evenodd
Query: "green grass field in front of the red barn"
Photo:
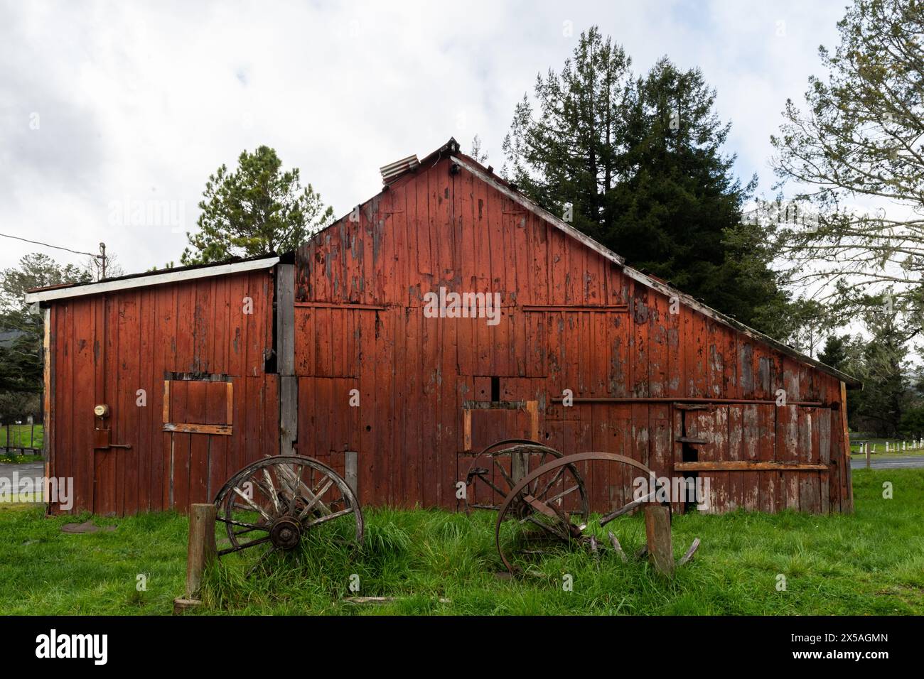
M 894 499 L 881 497 L 894 484 Z M 667 581 L 645 562 L 612 551 L 547 555 L 529 575 L 503 570 L 488 512 L 368 510 L 363 552 L 326 546 L 280 557 L 271 574 L 245 580 L 232 559 L 207 574 L 201 614 L 922 614 L 924 470 L 854 472 L 854 515 L 675 516 L 675 554 L 699 537 L 696 558 Z M 67 535 L 42 508 L 0 505 L 0 612 L 166 614 L 183 591 L 188 523 L 150 514 L 93 517 L 114 532 Z M 644 542 L 639 516 L 607 528 L 632 553 Z M 601 534 L 601 537 L 602 534 Z M 147 590 L 136 588 L 138 576 Z M 350 576 L 360 590 L 349 590 Z M 573 589 L 565 591 L 564 576 Z M 784 591 L 778 576 L 786 578 Z M 388 596 L 385 605 L 346 597 Z M 448 600 L 441 602 L 440 599 Z

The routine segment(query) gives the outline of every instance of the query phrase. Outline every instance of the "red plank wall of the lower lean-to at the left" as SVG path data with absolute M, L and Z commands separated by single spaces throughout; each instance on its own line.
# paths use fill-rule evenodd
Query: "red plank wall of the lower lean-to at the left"
M 54 429 L 49 474 L 71 477 L 72 511 L 127 515 L 211 502 L 230 474 L 274 455 L 278 427 L 269 272 L 140 287 L 56 301 L 51 307 Z M 244 313 L 244 297 L 253 313 Z M 166 373 L 225 374 L 234 385 L 233 433 L 163 430 Z M 139 390 L 146 405 L 140 406 Z M 176 422 L 225 424 L 225 382 L 171 381 Z M 102 425 L 93 406 L 110 406 Z M 94 427 L 111 443 L 94 449 Z M 50 507 L 58 511 L 57 505 Z

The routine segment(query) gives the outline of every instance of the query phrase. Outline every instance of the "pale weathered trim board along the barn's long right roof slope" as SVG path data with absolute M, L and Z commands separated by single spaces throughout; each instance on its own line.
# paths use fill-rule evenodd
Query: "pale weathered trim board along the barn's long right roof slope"
M 628 266 L 626 264 L 625 258 L 621 257 L 620 255 L 617 255 L 613 250 L 606 248 L 605 246 L 603 246 L 601 243 L 598 243 L 596 240 L 594 240 L 590 236 L 587 236 L 586 234 L 581 233 L 575 227 L 571 226 L 570 224 L 567 224 L 565 221 L 559 219 L 558 217 L 553 215 L 551 212 L 548 212 L 547 210 L 541 208 L 540 205 L 533 202 L 533 200 L 530 200 L 529 198 L 524 196 L 522 193 L 519 193 L 518 191 L 515 191 L 514 189 L 505 186 L 500 181 L 498 181 L 495 177 L 486 174 L 485 172 L 481 171 L 479 168 L 474 167 L 471 164 L 469 164 L 467 161 L 464 161 L 456 156 L 452 156 L 451 160 L 454 163 L 459 164 L 462 167 L 464 167 L 472 175 L 479 177 L 481 181 L 484 181 L 490 184 L 493 188 L 497 189 L 498 191 L 503 193 L 505 196 L 507 196 L 511 200 L 515 200 L 517 203 L 527 208 L 530 212 L 533 212 L 534 214 L 540 216 L 542 219 L 546 220 L 547 222 L 550 222 L 551 224 L 553 224 L 553 226 L 565 232 L 565 234 L 567 234 L 568 236 L 575 238 L 576 240 L 580 241 L 584 245 L 588 246 L 590 249 L 593 249 L 596 252 L 599 252 L 600 254 L 602 254 L 602 256 L 605 257 L 606 259 L 613 261 L 615 264 L 618 264 L 620 267 L 622 267 L 623 271 L 626 273 L 627 276 L 629 276 L 629 278 L 632 278 L 633 280 L 638 281 L 638 283 L 641 283 L 642 285 L 647 285 L 648 287 L 654 290 L 658 290 L 659 292 L 663 293 L 664 295 L 667 295 L 668 297 L 677 297 L 684 304 L 686 304 L 687 307 L 698 310 L 699 313 L 702 313 L 703 315 L 711 318 L 713 321 L 719 321 L 723 323 L 723 325 L 727 325 L 728 327 L 732 328 L 733 330 L 736 330 L 739 333 L 744 333 L 748 335 L 748 337 L 751 337 L 752 339 L 762 342 L 763 344 L 772 346 L 776 350 L 780 351 L 781 353 L 786 354 L 787 356 L 791 358 L 796 358 L 796 360 L 798 361 L 801 361 L 803 363 L 808 363 L 808 365 L 812 366 L 813 368 L 817 368 L 823 372 L 826 372 L 832 377 L 835 377 L 841 382 L 844 382 L 847 386 L 849 386 L 852 389 L 857 389 L 857 388 L 861 389 L 863 387 L 863 382 L 860 382 L 859 380 L 857 380 L 857 378 L 852 377 L 846 374 L 845 372 L 842 372 L 841 370 L 832 368 L 829 365 L 825 365 L 820 360 L 806 356 L 802 352 L 794 349 L 792 346 L 784 345 L 784 343 L 780 342 L 779 340 L 773 339 L 770 335 L 761 333 L 759 330 L 754 330 L 754 328 L 748 327 L 748 325 L 745 325 L 741 321 L 736 321 L 735 319 L 729 316 L 726 316 L 721 311 L 712 309 L 711 307 L 703 304 L 702 302 L 699 302 L 699 300 L 695 299 L 694 297 L 690 297 L 686 293 L 680 292 L 679 290 L 671 287 L 670 285 L 656 281 L 655 279 L 651 278 L 649 275 L 646 275 L 645 273 L 641 273 L 637 269 L 633 269 L 631 266 Z

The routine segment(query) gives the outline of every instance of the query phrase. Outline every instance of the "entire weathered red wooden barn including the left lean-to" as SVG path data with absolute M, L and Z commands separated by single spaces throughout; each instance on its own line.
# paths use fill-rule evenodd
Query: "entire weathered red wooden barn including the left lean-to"
M 456 508 L 472 452 L 519 437 L 710 479 L 710 511 L 851 511 L 852 378 L 632 269 L 455 140 L 383 176 L 295 253 L 30 293 L 72 511 L 185 510 L 293 451 L 354 455 L 363 503 Z M 632 492 L 585 475 L 594 509 Z

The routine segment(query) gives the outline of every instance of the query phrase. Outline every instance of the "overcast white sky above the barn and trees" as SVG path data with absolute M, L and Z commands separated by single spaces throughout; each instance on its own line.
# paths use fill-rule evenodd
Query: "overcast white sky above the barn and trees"
M 478 133 L 500 167 L 515 103 L 594 23 L 636 72 L 662 55 L 702 68 L 737 175 L 758 173 L 771 198 L 769 137 L 786 98 L 821 75 L 818 47 L 836 44 L 844 12 L 836 0 L 0 0 L 0 233 L 103 240 L 133 273 L 178 262 L 208 176 L 260 144 L 338 216 L 381 188 L 381 165 L 451 136 L 468 151 Z M 138 223 L 139 206 L 161 205 Z M 0 267 L 36 249 L 0 237 Z

